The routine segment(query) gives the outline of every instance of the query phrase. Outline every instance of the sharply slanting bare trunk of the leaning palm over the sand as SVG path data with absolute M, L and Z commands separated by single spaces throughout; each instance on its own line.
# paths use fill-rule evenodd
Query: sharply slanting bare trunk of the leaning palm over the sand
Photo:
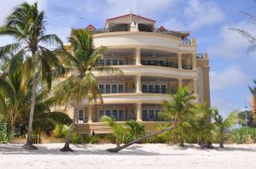
M 163 133 L 163 132 L 166 132 L 168 130 L 172 130 L 173 127 L 166 127 L 164 128 L 163 130 L 159 131 L 159 132 L 154 132 L 154 133 L 151 133 L 151 134 L 148 134 L 146 136 L 143 136 L 142 138 L 137 138 L 136 140 L 134 141 L 131 141 L 130 143 L 128 144 L 124 144 L 124 145 L 121 145 L 119 147 L 116 147 L 116 148 L 113 148 L 113 149 L 107 149 L 109 152 L 112 152 L 112 153 L 118 153 L 119 150 L 121 149 L 125 149 L 126 147 L 129 147 L 130 145 L 132 144 L 138 144 L 138 143 L 141 143 L 144 139 L 147 139 L 147 138 L 150 138 L 150 137 L 153 137 L 153 136 L 156 136 L 160 133 Z

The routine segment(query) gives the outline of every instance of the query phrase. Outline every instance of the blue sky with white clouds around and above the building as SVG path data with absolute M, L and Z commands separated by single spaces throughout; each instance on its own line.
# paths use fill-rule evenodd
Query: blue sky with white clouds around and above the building
M 22 0 L 0 0 L 0 25 Z M 34 0 L 28 0 L 32 3 Z M 243 28 L 256 34 L 256 25 L 244 13 L 253 14 L 253 0 L 38 0 L 47 14 L 47 31 L 67 42 L 72 27 L 93 24 L 102 28 L 114 16 L 140 14 L 174 31 L 191 31 L 198 53 L 210 58 L 212 106 L 226 115 L 249 104 L 247 85 L 256 79 L 256 52 L 247 54 L 248 42 L 230 28 Z M 82 18 L 82 20 L 81 20 Z M 0 37 L 0 46 L 11 42 Z

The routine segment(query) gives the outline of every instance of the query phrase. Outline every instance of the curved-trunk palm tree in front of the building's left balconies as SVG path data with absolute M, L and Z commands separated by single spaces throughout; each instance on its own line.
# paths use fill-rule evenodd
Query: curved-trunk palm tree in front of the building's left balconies
M 100 66 L 102 53 L 107 48 L 95 48 L 90 32 L 84 30 L 73 31 L 68 42 L 70 42 L 70 51 L 60 50 L 57 54 L 63 57 L 63 64 L 73 74 L 55 86 L 56 104 L 66 104 L 66 106 L 76 108 L 84 99 L 88 99 L 89 102 L 97 101 L 98 99 L 102 100 L 94 73 L 122 75 L 122 71 L 109 66 Z M 70 127 L 67 141 L 61 151 L 72 151 L 69 148 L 69 142 L 75 121 L 76 113 L 74 112 L 73 123 Z

